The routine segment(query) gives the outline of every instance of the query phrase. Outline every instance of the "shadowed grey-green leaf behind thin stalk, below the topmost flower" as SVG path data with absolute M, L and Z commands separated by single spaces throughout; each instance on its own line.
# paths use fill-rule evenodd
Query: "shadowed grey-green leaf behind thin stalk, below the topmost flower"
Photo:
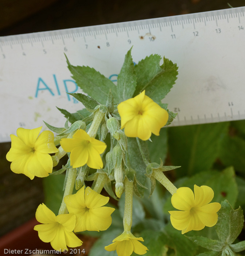
M 140 142 L 141 147 L 144 151 L 145 157 L 148 157 L 148 148 L 146 142 Z M 128 138 L 128 154 L 129 154 L 129 161 L 131 164 L 132 169 L 135 170 L 136 179 L 143 185 L 145 185 L 145 163 L 141 157 L 139 147 L 135 138 Z M 140 192 L 140 195 L 144 195 L 144 188 L 137 186 Z

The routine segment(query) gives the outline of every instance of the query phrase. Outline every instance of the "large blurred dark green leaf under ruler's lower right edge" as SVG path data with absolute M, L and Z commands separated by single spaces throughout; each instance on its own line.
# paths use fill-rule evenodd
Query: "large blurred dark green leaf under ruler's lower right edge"
M 191 176 L 208 170 L 218 157 L 228 122 L 168 128 L 168 146 L 173 165 L 182 166 L 177 174 Z

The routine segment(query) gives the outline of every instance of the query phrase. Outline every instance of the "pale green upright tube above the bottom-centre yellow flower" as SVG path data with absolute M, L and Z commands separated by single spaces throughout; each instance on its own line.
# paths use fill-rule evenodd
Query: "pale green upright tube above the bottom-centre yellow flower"
M 132 213 L 133 213 L 133 182 L 130 182 L 125 177 L 125 204 L 123 215 L 124 231 L 130 232 L 132 226 Z

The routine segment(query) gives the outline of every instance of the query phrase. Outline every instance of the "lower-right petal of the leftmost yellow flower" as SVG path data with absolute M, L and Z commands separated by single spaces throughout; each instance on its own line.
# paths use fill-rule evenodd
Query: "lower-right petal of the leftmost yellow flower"
M 37 177 L 47 177 L 48 173 L 52 173 L 52 168 L 53 161 L 51 155 L 39 153 L 38 151 L 32 154 L 27 164 L 28 172 Z

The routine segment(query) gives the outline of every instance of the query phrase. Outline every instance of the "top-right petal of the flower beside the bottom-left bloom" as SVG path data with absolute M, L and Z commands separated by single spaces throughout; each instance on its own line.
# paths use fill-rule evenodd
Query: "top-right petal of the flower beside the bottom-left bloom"
M 85 189 L 85 204 L 89 209 L 104 206 L 108 202 L 108 196 L 102 196 L 97 192 L 93 191 L 93 189 L 91 189 L 90 187 L 87 187 Z

